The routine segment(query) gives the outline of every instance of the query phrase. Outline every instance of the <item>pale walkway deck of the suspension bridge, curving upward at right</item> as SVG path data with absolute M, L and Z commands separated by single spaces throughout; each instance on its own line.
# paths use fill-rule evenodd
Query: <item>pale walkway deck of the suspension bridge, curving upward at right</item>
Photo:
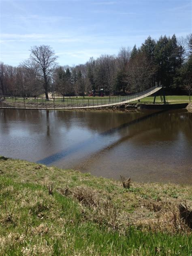
M 128 95 L 128 96 L 124 96 L 124 97 L 116 97 L 115 99 L 115 103 L 107 103 L 107 104 L 97 104 L 97 105 L 82 105 L 82 106 L 67 106 L 67 107 L 56 107 L 54 106 L 53 108 L 42 108 L 42 107 L 32 107 L 32 108 L 28 108 L 28 107 L 2 107 L 0 106 L 0 108 L 8 108 L 8 109 L 39 109 L 39 110 L 61 110 L 61 109 L 85 109 L 85 108 L 105 108 L 105 107 L 111 107 L 111 106 L 115 106 L 115 105 L 121 105 L 121 104 L 126 104 L 126 103 L 130 103 L 130 102 L 133 102 L 133 101 L 137 101 L 139 99 L 143 99 L 151 94 L 154 94 L 156 93 L 158 90 L 160 90 L 162 87 L 158 87 L 158 86 L 154 86 L 154 87 L 151 87 L 149 88 L 148 90 L 145 90 L 141 93 L 137 93 L 137 94 L 134 94 L 134 95 Z M 123 100 L 121 100 L 123 98 Z M 119 101 L 120 100 L 120 101 Z

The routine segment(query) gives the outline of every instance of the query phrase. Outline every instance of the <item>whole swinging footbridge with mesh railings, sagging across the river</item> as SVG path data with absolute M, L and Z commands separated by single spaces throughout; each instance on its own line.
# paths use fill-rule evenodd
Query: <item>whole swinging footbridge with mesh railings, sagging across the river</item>
M 64 100 L 59 98 L 46 100 L 44 97 L 26 99 L 16 96 L 6 96 L 6 101 L 0 102 L 0 108 L 39 110 L 109 108 L 143 99 L 149 95 L 156 94 L 156 92 L 161 88 L 162 86 L 154 86 L 143 92 L 135 93 L 132 95 L 108 98 L 100 97 L 96 99 L 79 99 L 76 97 L 65 98 Z

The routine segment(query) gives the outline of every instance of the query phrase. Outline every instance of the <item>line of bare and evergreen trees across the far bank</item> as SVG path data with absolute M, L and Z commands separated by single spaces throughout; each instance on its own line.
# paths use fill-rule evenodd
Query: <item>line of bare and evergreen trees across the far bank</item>
M 116 55 L 90 58 L 85 64 L 60 66 L 49 45 L 33 46 L 18 67 L 0 63 L 0 93 L 36 97 L 56 92 L 62 97 L 138 93 L 156 84 L 169 93 L 192 90 L 192 34 L 186 38 L 150 36 L 141 47 L 121 47 Z

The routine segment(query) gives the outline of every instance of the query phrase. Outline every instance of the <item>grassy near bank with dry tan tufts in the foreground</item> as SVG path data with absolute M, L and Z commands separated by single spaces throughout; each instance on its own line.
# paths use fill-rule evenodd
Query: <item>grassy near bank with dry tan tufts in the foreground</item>
M 0 158 L 0 254 L 190 255 L 192 187 L 96 178 Z

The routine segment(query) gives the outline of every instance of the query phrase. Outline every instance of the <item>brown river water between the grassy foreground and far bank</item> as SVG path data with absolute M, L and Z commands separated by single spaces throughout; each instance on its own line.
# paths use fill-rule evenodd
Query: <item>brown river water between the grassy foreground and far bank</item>
M 0 155 L 113 179 L 192 185 L 192 113 L 0 109 Z

